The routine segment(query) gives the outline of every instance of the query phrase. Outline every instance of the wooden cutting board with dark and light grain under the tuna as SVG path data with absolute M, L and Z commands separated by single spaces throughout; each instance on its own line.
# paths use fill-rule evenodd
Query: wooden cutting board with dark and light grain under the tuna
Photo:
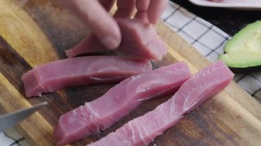
M 194 74 L 210 64 L 164 23 L 156 27 L 169 53 L 161 62 L 155 62 L 155 66 L 183 60 Z M 49 106 L 16 126 L 32 145 L 55 145 L 52 132 L 60 114 L 100 97 L 114 85 L 72 87 L 25 99 L 21 75 L 36 65 L 66 58 L 65 49 L 76 45 L 87 34 L 88 29 L 81 21 L 49 1 L 0 0 L 0 111 L 11 112 L 42 101 L 49 102 Z M 148 101 L 108 130 L 73 145 L 98 141 L 169 97 Z M 186 114 L 150 145 L 258 145 L 261 143 L 260 112 L 260 104 L 233 82 L 213 99 Z

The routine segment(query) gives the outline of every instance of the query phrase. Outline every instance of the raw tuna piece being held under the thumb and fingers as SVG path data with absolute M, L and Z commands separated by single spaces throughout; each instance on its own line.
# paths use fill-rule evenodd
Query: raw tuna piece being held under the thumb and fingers
M 117 19 L 117 23 L 122 32 L 122 42 L 116 51 L 119 55 L 139 60 L 161 60 L 168 52 L 153 25 L 142 23 L 138 19 Z M 91 35 L 66 53 L 67 56 L 73 57 L 107 50 L 95 36 Z

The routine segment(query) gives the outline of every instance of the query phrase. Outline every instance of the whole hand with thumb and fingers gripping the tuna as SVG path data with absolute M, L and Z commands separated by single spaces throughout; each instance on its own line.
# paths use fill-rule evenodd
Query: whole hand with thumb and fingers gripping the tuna
M 93 34 L 109 49 L 116 49 L 121 42 L 120 27 L 108 13 L 115 0 L 54 0 L 74 12 L 91 28 Z M 135 18 L 157 23 L 167 0 L 117 0 L 115 17 L 129 18 L 137 8 Z

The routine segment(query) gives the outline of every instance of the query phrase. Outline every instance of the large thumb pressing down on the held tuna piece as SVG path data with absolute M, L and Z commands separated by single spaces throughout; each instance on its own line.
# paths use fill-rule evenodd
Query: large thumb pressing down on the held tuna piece
M 93 31 L 93 34 L 109 49 L 120 45 L 120 28 L 99 1 L 93 0 L 56 0 L 60 5 L 74 12 Z M 105 4 L 105 3 L 104 3 Z M 109 7 L 107 7 L 109 8 Z

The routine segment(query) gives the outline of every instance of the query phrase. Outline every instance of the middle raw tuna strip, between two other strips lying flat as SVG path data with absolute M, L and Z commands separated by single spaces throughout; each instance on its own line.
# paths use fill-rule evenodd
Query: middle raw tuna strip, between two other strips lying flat
M 65 145 L 105 130 L 146 99 L 174 93 L 189 78 L 185 62 L 129 77 L 102 97 L 63 114 L 54 138 L 58 145 Z

